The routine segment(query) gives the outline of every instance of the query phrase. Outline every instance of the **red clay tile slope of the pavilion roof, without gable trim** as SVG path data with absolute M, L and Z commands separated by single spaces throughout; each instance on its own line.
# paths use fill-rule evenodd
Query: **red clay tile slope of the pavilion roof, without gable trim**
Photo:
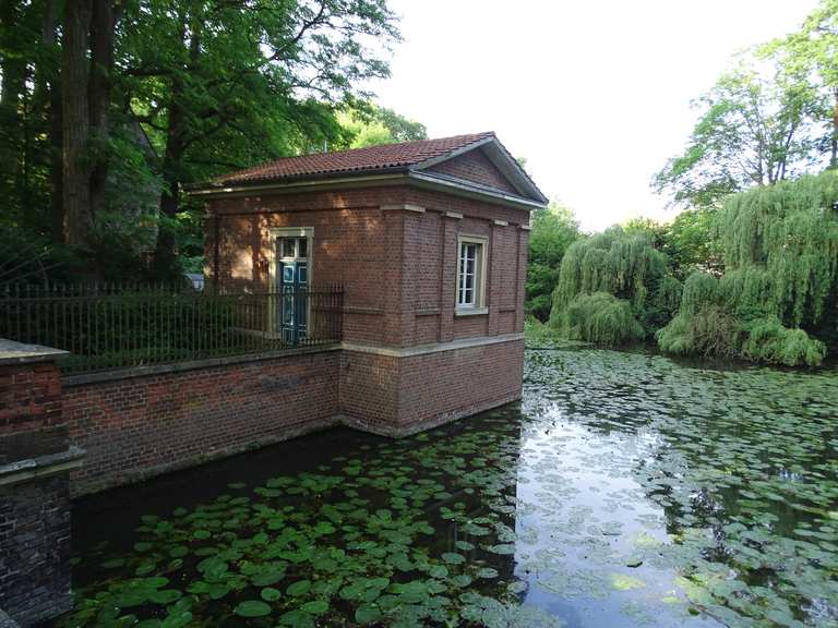
M 382 144 L 367 148 L 283 157 L 276 161 L 225 174 L 217 183 L 241 183 L 323 177 L 343 172 L 368 172 L 409 168 L 427 159 L 442 157 L 476 142 L 494 137 L 493 132 L 455 135 L 440 140 L 419 140 L 399 144 Z

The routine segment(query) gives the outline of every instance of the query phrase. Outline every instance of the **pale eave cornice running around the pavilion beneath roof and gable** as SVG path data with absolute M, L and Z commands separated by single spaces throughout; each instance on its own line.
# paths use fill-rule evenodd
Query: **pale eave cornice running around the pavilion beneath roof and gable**
M 543 202 L 524 198 L 501 190 L 469 183 L 423 171 L 404 169 L 397 172 L 376 172 L 374 174 L 354 174 L 298 181 L 259 181 L 238 184 L 222 184 L 187 190 L 199 198 L 222 198 L 230 196 L 251 196 L 253 194 L 294 194 L 309 191 L 328 191 L 347 188 L 369 188 L 382 185 L 414 185 L 426 190 L 447 192 L 456 196 L 477 198 L 500 205 L 513 205 L 524 209 L 538 209 L 547 205 Z

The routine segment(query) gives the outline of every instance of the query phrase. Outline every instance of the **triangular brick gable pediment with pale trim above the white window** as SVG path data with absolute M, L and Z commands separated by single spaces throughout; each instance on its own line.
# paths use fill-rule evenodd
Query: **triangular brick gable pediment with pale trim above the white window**
M 496 137 L 491 136 L 448 155 L 429 159 L 412 170 L 427 174 L 466 181 L 501 192 L 523 196 L 537 203 L 547 197 Z

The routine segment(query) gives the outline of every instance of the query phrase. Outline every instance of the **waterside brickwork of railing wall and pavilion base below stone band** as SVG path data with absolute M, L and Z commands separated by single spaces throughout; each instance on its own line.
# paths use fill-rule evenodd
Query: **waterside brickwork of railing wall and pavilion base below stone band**
M 68 378 L 80 496 L 337 424 L 402 436 L 520 397 L 523 340 L 396 358 L 348 348 Z M 492 367 L 492 365 L 495 367 Z M 504 365 L 504 367 L 496 367 Z M 513 365 L 513 367 L 508 367 Z

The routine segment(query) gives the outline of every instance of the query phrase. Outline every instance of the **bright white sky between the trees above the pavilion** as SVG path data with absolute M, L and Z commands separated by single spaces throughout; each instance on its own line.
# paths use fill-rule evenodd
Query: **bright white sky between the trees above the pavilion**
M 431 137 L 494 131 L 586 230 L 671 218 L 649 181 L 733 52 L 816 0 L 391 0 L 405 41 L 379 102 Z

